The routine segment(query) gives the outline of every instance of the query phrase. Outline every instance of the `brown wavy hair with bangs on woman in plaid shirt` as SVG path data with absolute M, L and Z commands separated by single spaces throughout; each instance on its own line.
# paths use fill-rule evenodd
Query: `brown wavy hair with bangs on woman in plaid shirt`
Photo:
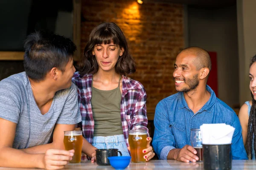
M 119 56 L 115 71 L 117 74 L 132 74 L 136 71 L 134 59 L 128 51 L 128 45 L 125 35 L 115 23 L 101 23 L 91 31 L 87 45 L 84 48 L 84 54 L 81 62 L 79 62 L 79 74 L 95 74 L 99 70 L 99 65 L 92 51 L 97 44 L 110 44 L 111 41 L 115 45 L 119 45 L 124 49 L 122 56 Z

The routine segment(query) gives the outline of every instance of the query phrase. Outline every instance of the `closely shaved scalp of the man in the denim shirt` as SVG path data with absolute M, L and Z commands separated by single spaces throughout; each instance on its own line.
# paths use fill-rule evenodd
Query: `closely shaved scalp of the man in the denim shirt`
M 195 64 L 197 70 L 207 67 L 207 68 L 209 68 L 209 71 L 211 71 L 212 62 L 211 62 L 211 58 L 206 50 L 204 50 L 203 48 L 199 48 L 199 47 L 189 47 L 189 48 L 185 48 L 182 51 L 180 51 L 180 53 L 183 53 L 183 52 L 186 52 L 186 53 L 196 56 L 196 58 L 193 60 L 193 63 Z

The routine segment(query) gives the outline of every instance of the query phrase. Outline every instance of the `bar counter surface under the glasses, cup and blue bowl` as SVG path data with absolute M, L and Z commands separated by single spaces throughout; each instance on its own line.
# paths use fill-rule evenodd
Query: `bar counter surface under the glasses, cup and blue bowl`
M 114 170 L 111 166 L 99 166 L 90 161 L 82 161 L 80 164 L 68 164 L 64 169 L 68 170 Z M 185 163 L 175 160 L 151 160 L 146 163 L 130 163 L 125 170 L 204 170 L 203 162 Z M 232 170 L 256 169 L 255 160 L 233 160 Z M 25 168 L 1 168 L 0 170 L 25 170 Z M 29 169 L 26 170 L 38 170 Z

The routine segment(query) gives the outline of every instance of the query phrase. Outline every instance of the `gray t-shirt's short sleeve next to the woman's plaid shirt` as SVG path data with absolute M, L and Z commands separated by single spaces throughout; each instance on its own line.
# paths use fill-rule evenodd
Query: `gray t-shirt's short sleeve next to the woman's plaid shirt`
M 57 120 L 58 124 L 73 125 L 81 122 L 81 113 L 78 106 L 76 85 L 72 82 L 70 93 Z

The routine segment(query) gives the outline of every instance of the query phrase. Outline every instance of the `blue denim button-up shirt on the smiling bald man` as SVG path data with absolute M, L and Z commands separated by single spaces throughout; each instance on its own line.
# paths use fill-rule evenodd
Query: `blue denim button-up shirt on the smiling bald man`
M 242 129 L 236 113 L 218 99 L 207 85 L 211 97 L 197 112 L 188 107 L 183 92 L 161 100 L 154 115 L 153 147 L 159 159 L 167 159 L 170 150 L 190 143 L 190 129 L 199 129 L 204 123 L 226 123 L 235 127 L 232 139 L 233 159 L 248 159 L 242 139 Z

